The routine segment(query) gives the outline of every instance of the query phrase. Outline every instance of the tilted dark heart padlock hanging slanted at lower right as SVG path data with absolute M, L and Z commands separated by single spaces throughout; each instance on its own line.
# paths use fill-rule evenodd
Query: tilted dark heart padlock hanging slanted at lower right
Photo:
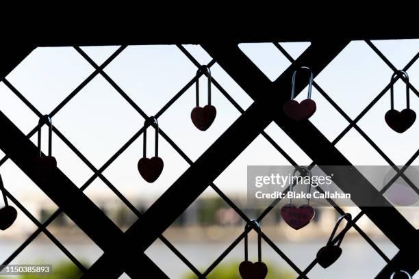
M 336 230 L 338 230 L 340 222 L 342 222 L 342 220 L 344 220 L 345 218 L 347 221 L 346 227 L 344 228 L 342 233 L 338 235 L 339 238 L 337 237 L 336 239 L 333 239 L 333 237 L 335 237 Z M 327 268 L 333 265 L 335 261 L 338 261 L 338 258 L 342 254 L 342 248 L 340 248 L 340 243 L 342 243 L 342 240 L 344 239 L 346 232 L 351 227 L 351 220 L 352 215 L 349 213 L 345 213 L 344 215 L 339 217 L 338 222 L 336 222 L 335 227 L 333 228 L 333 231 L 329 237 L 329 241 L 327 241 L 327 244 L 324 247 L 320 248 L 320 250 L 318 250 L 317 252 L 317 262 L 321 267 Z M 336 245 L 333 245 L 333 242 L 335 241 L 337 241 L 338 243 Z

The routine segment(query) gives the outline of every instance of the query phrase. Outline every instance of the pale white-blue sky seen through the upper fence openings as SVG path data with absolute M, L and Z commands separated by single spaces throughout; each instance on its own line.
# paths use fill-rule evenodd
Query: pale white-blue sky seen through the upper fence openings
M 379 41 L 374 44 L 390 59 L 396 68 L 403 68 L 419 51 L 419 40 Z M 296 58 L 309 45 L 307 42 L 281 44 Z M 199 46 L 186 45 L 190 53 L 202 64 L 211 57 Z M 97 64 L 101 64 L 118 47 L 82 48 Z M 271 80 L 275 80 L 290 65 L 273 44 L 241 44 L 240 49 Z M 38 48 L 8 75 L 7 79 L 35 107 L 48 114 L 68 94 L 94 71 L 94 68 L 71 47 Z M 175 46 L 132 46 L 127 47 L 105 68 L 107 75 L 122 88 L 150 116 L 183 88 L 196 73 L 196 67 Z M 410 81 L 419 88 L 419 63 L 407 70 Z M 388 85 L 392 70 L 365 42 L 351 42 L 340 55 L 323 70 L 315 81 L 346 111 L 355 118 L 372 99 Z M 246 109 L 252 101 L 249 96 L 217 64 L 212 67 L 212 76 Z M 291 81 L 290 81 L 291 82 Z M 206 80 L 201 78 L 201 104 L 207 101 Z M 405 108 L 405 85 L 401 81 L 395 86 L 395 108 Z M 306 92 L 306 91 L 305 91 Z M 298 98 L 305 98 L 303 92 Z M 193 161 L 214 142 L 240 115 L 227 99 L 213 86 L 212 104 L 217 116 L 212 127 L 198 131 L 190 120 L 194 107 L 194 86 L 179 98 L 160 118 L 160 127 L 186 152 Z M 263 92 L 261 92 L 262 94 Z M 0 84 L 0 109 L 24 133 L 36 126 L 38 118 L 3 84 Z M 290 94 L 290 92 L 278 92 Z M 315 89 L 312 98 L 317 111 L 311 121 L 329 140 L 348 125 L 338 111 Z M 419 113 L 418 98 L 411 93 L 411 108 Z M 278 107 L 281 109 L 281 107 Z M 396 165 L 403 165 L 418 146 L 419 124 L 403 134 L 392 131 L 384 122 L 384 114 L 390 109 L 390 92 L 375 105 L 359 122 L 371 139 L 388 154 Z M 81 90 L 57 115 L 53 117 L 57 127 L 81 152 L 100 168 L 120 146 L 138 131 L 144 119 L 98 75 Z M 285 151 L 300 165 L 311 160 L 275 124 L 266 129 Z M 43 135 L 47 135 L 43 133 Z M 153 137 L 149 129 L 148 155 L 153 154 Z M 47 146 L 45 137 L 43 147 Z M 36 135 L 32 137 L 36 142 Z M 351 130 L 337 145 L 353 165 L 387 165 L 369 144 Z M 160 157 L 164 159 L 162 176 L 153 184 L 146 183 L 137 170 L 142 157 L 142 137 L 136 140 L 104 175 L 130 200 L 142 197 L 157 198 L 188 168 L 184 161 L 162 137 Z M 92 171 L 57 137 L 53 137 L 53 155 L 58 167 L 77 186 L 83 185 Z M 229 196 L 246 194 L 247 165 L 287 165 L 280 154 L 259 136 L 236 161 L 215 181 Z M 417 164 L 417 161 L 414 163 Z M 14 163 L 8 161 L 0 168 L 5 187 L 20 198 L 45 196 Z M 59 187 L 59 185 L 58 185 Z M 193 185 L 185 185 L 193 187 Z M 90 197 L 112 196 L 113 194 L 99 178 L 85 191 Z M 207 189 L 205 194 L 211 194 Z M 116 196 L 115 196 L 116 198 Z

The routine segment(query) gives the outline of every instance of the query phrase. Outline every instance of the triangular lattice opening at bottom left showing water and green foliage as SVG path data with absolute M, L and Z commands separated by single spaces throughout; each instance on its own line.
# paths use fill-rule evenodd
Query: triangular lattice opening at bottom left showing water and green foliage
M 81 271 L 44 233 L 40 233 L 34 241 L 10 263 L 11 265 L 52 265 L 51 277 L 79 278 Z

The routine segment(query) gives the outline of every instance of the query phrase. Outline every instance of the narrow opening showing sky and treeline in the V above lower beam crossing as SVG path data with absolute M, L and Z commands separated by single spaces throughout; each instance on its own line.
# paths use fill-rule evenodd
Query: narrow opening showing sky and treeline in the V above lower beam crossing
M 84 190 L 84 194 L 121 229 L 127 230 L 138 219 L 136 214 L 123 203 L 101 179 L 96 178 Z M 136 207 L 137 204 L 133 204 Z

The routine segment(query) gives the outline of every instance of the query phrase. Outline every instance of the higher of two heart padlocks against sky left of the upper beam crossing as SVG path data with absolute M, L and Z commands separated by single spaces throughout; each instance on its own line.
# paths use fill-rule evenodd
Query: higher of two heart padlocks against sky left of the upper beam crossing
M 205 107 L 199 106 L 199 73 L 200 72 L 207 72 L 207 79 L 208 79 L 208 105 Z M 196 83 L 195 83 L 195 91 L 196 91 L 196 107 L 192 109 L 190 113 L 190 118 L 192 119 L 192 123 L 201 131 L 206 131 L 210 128 L 212 122 L 214 122 L 217 110 L 216 108 L 211 105 L 211 70 L 208 66 L 201 66 L 196 71 Z

